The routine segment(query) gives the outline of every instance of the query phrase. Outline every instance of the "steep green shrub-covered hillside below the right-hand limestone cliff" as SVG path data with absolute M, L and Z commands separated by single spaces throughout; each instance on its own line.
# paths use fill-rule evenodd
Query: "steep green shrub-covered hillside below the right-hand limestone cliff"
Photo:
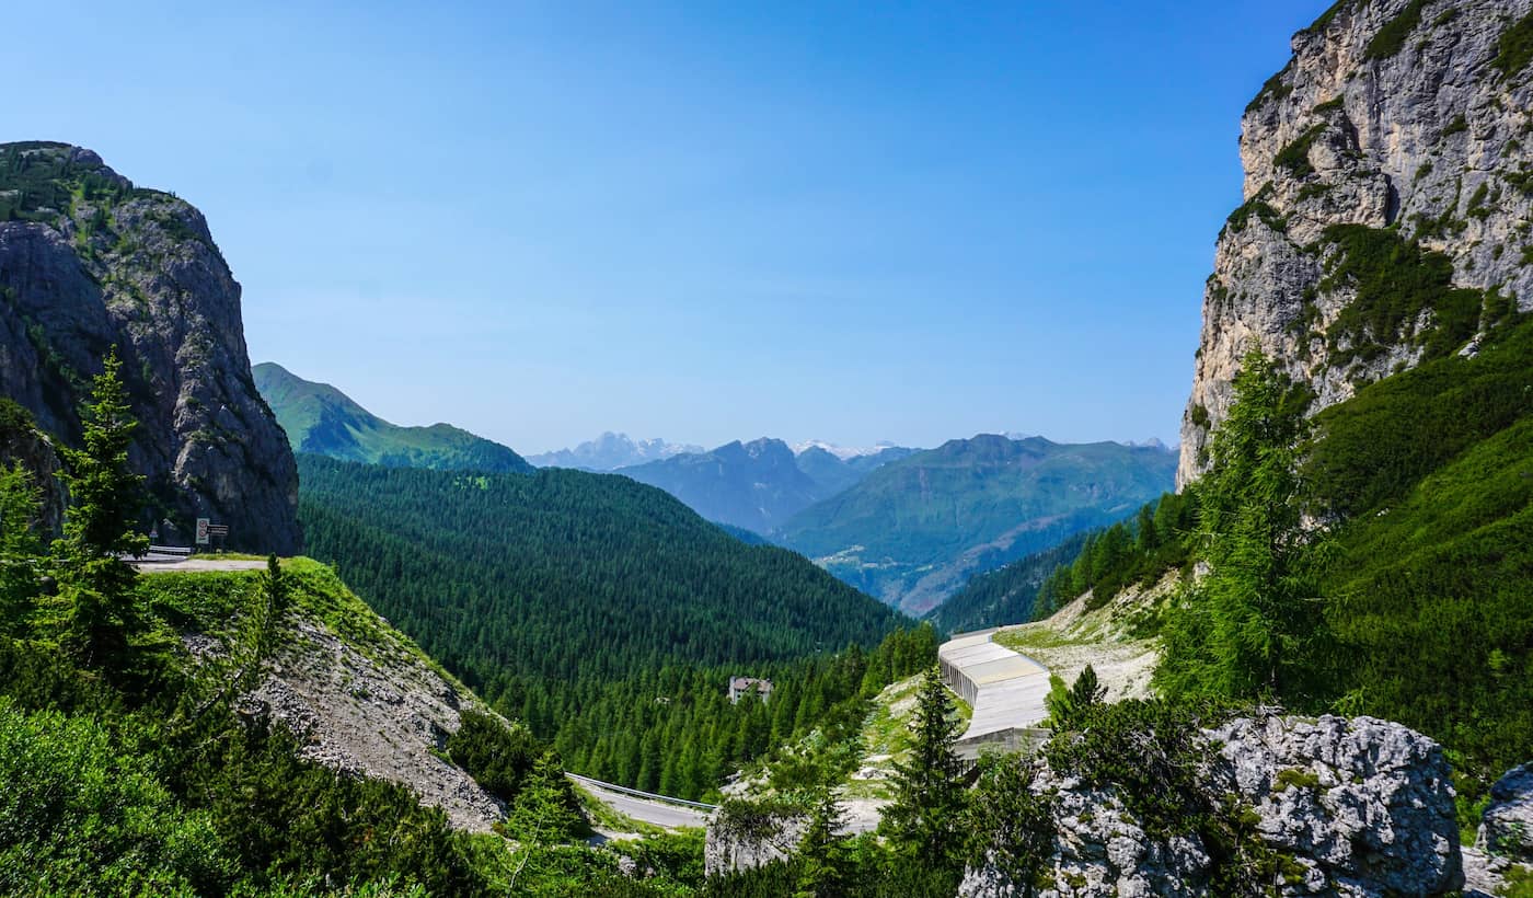
M 1533 322 L 1318 415 L 1338 706 L 1498 775 L 1533 746 Z

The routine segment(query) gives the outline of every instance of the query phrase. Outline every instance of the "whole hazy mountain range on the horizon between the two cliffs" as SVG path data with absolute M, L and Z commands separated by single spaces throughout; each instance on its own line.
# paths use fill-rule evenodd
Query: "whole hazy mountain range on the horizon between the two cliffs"
M 535 470 L 506 446 L 449 424 L 391 424 L 279 365 L 256 365 L 253 374 L 297 452 L 389 467 Z M 912 615 L 977 573 L 1131 513 L 1170 489 L 1176 469 L 1176 455 L 1159 443 L 998 435 L 927 451 L 823 441 L 794 451 L 768 437 L 702 451 L 609 432 L 535 458 L 659 487 L 736 535 L 797 550 Z M 633 458 L 644 461 L 621 464 Z

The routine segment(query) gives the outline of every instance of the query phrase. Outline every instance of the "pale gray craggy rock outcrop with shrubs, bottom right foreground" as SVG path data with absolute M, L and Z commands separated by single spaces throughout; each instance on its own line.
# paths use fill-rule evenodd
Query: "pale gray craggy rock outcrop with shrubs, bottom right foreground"
M 1206 729 L 1200 789 L 1233 797 L 1260 843 L 1282 858 L 1280 895 L 1446 895 L 1462 886 L 1453 789 L 1443 749 L 1371 717 L 1245 717 Z M 1044 768 L 1053 792 L 1046 896 L 1213 896 L 1211 847 L 1196 834 L 1151 838 L 1111 789 Z M 1217 801 L 1216 801 L 1217 803 Z M 973 869 L 960 895 L 1012 886 Z

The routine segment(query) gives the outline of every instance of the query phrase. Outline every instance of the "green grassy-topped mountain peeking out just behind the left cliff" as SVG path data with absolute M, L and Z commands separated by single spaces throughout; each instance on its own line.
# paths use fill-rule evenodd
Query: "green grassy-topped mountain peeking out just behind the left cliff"
M 353 401 L 328 383 L 304 380 L 273 362 L 250 369 L 256 389 L 277 415 L 294 452 L 388 467 L 440 470 L 532 470 L 520 455 L 451 424 L 402 428 Z

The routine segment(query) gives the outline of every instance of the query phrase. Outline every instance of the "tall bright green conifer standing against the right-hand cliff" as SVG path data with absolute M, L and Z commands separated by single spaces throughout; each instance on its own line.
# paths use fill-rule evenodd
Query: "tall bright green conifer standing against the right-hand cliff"
M 1196 546 L 1210 570 L 1170 615 L 1156 671 L 1171 694 L 1305 696 L 1323 639 L 1300 503 L 1306 398 L 1262 352 L 1242 359 L 1229 418 L 1196 484 Z

